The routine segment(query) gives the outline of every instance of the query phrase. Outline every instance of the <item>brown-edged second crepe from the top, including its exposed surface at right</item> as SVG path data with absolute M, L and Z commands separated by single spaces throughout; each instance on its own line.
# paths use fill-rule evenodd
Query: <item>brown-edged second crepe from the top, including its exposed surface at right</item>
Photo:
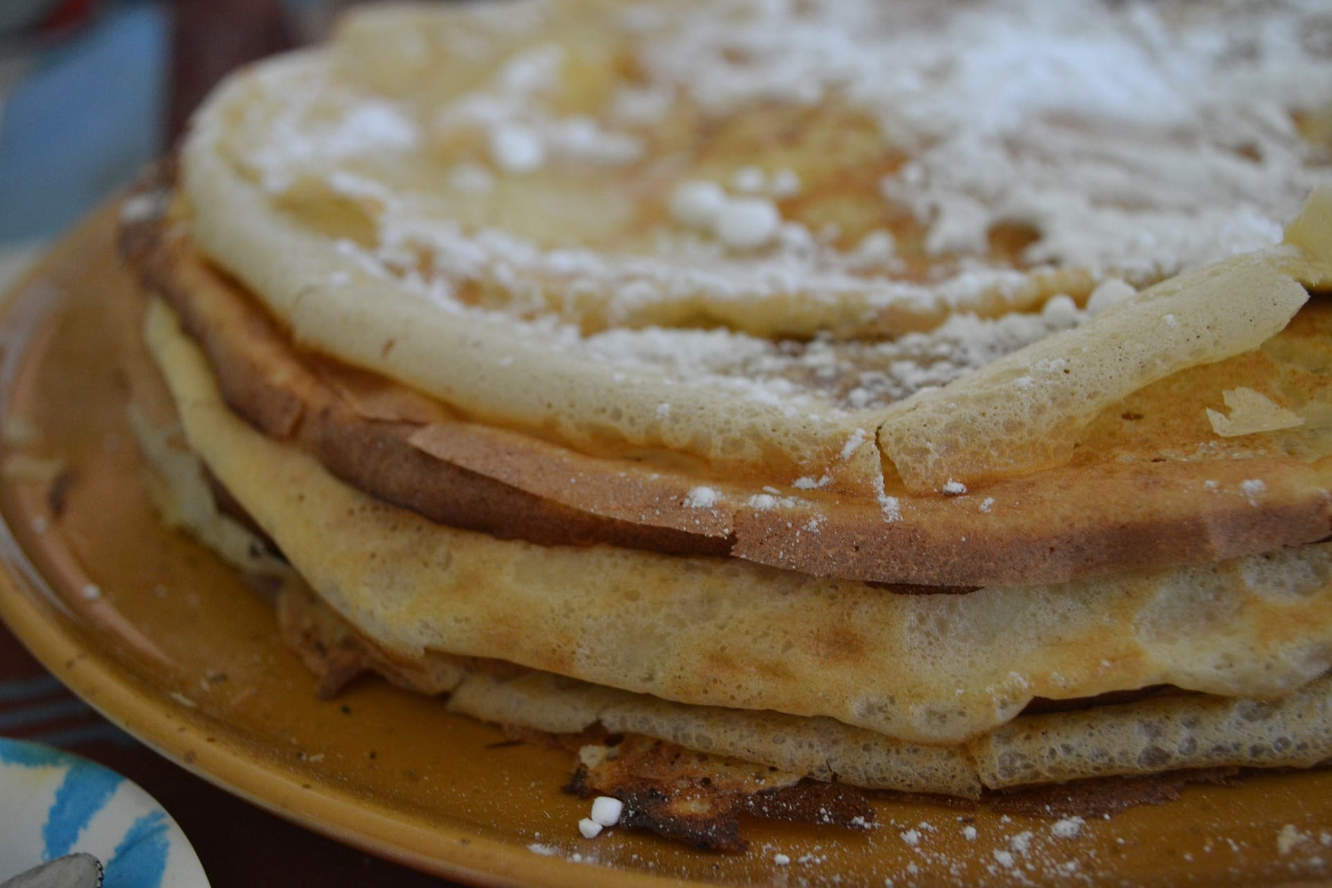
M 168 176 L 161 186 L 169 185 Z M 140 220 L 128 229 L 129 250 L 204 342 L 228 402 L 352 485 L 452 526 L 944 586 L 1209 563 L 1319 541 L 1332 526 L 1328 462 L 1319 455 L 1332 415 L 1325 300 L 1305 305 L 1261 349 L 1115 403 L 1059 470 L 962 495 L 900 491 L 859 502 L 593 457 L 468 421 L 414 390 L 293 347 L 253 297 L 201 260 L 190 230 L 182 218 Z M 1281 391 L 1308 422 L 1219 438 L 1197 405 L 1240 383 Z

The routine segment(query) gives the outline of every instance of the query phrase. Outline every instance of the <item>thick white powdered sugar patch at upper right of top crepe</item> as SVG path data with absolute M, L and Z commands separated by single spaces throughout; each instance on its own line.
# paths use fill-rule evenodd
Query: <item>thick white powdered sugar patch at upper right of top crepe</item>
M 647 45 L 649 71 L 718 114 L 850 97 L 918 153 L 886 192 L 939 252 L 1023 220 L 1034 260 L 1171 273 L 1272 242 L 1315 177 L 1288 117 L 1332 83 L 1312 5 L 721 5 Z

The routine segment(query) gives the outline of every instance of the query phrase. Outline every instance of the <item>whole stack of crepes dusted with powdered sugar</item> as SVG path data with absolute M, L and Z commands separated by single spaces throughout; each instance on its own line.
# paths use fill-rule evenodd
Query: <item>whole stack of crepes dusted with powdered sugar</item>
M 1232 7 L 356 13 L 125 205 L 166 515 L 701 844 L 1319 764 L 1332 17 Z

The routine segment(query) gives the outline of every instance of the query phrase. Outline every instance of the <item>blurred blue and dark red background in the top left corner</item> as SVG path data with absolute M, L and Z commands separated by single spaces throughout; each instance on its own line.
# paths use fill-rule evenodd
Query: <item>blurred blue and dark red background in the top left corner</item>
M 0 288 L 124 188 L 232 68 L 337 0 L 0 0 Z

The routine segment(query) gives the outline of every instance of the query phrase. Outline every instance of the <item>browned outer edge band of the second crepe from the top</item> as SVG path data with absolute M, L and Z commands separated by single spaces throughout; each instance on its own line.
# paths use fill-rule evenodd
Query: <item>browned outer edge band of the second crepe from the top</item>
M 903 495 L 900 519 L 886 521 L 878 503 L 817 491 L 813 510 L 735 506 L 735 497 L 693 509 L 685 498 L 703 483 L 698 477 L 460 421 L 404 386 L 294 349 L 252 297 L 194 254 L 178 226 L 128 224 L 123 244 L 144 284 L 204 347 L 233 410 L 344 482 L 454 527 L 543 545 L 729 554 L 899 591 L 1209 563 L 1332 533 L 1332 497 L 1309 485 L 1317 471 L 1269 457 L 1095 466 L 1059 490 L 1040 474 L 1016 478 L 984 491 L 999 503 L 992 515 L 980 514 L 979 495 Z M 1261 502 L 1196 494 L 1204 479 L 1247 478 L 1269 479 L 1271 493 Z

